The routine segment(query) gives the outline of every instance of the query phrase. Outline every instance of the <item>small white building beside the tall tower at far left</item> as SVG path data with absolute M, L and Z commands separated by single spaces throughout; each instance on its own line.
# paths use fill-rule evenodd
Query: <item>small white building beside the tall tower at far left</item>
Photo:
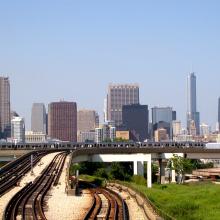
M 21 117 L 14 117 L 11 120 L 11 139 L 14 143 L 25 142 L 25 124 Z

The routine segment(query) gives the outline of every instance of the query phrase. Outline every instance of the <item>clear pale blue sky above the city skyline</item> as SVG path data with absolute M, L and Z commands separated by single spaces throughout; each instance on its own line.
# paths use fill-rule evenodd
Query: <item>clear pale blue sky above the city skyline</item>
M 33 102 L 65 99 L 102 114 L 109 82 L 140 84 L 142 104 L 185 123 L 186 77 L 197 75 L 201 121 L 217 121 L 220 1 L 0 0 L 0 73 L 30 125 Z

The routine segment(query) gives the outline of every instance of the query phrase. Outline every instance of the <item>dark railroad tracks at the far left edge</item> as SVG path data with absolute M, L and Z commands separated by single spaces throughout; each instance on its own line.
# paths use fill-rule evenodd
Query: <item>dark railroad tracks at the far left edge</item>
M 45 156 L 46 152 L 34 152 L 33 166 Z M 0 197 L 13 188 L 20 179 L 31 170 L 31 154 L 24 155 L 21 159 L 6 165 L 0 171 Z

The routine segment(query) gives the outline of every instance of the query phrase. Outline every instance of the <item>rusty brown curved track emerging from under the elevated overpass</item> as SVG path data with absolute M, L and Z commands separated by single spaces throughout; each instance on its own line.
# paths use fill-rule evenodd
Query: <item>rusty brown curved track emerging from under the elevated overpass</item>
M 84 220 L 129 219 L 127 205 L 118 193 L 108 188 L 92 188 L 90 192 L 93 197 L 93 202 Z

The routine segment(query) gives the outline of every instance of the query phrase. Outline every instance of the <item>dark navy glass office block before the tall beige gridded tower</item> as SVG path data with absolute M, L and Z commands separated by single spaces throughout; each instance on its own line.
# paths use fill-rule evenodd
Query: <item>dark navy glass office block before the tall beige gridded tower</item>
M 124 105 L 122 107 L 122 122 L 126 130 L 129 130 L 134 141 L 145 141 L 148 138 L 148 106 Z

